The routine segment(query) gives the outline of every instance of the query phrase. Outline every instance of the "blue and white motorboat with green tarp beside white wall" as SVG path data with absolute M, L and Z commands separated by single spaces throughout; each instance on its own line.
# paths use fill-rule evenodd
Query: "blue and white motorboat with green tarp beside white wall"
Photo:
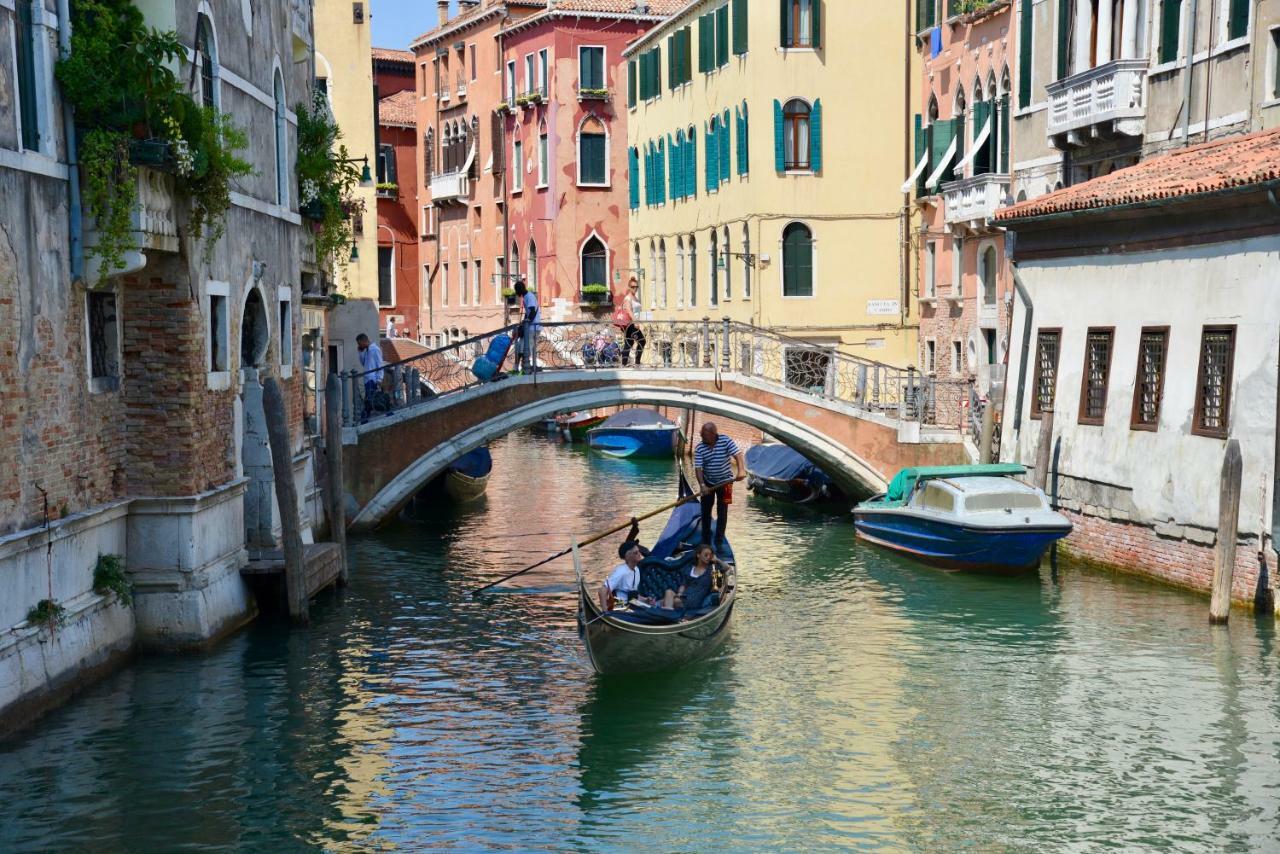
M 1039 565 L 1071 522 L 1019 465 L 928 466 L 897 472 L 854 508 L 858 536 L 948 570 L 1015 572 Z

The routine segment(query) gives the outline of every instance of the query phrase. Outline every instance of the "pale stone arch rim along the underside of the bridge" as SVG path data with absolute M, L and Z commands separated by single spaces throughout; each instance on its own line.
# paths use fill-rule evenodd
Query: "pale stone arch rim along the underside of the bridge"
M 726 383 L 728 385 L 728 383 Z M 764 430 L 827 470 L 850 494 L 874 493 L 886 488 L 884 478 L 867 460 L 841 442 L 804 421 L 785 417 L 777 410 L 724 392 L 707 392 L 667 385 L 607 384 L 550 394 L 458 430 L 406 465 L 381 485 L 355 513 L 351 529 L 372 530 L 393 519 L 408 501 L 463 453 L 498 439 L 512 430 L 536 424 L 544 417 L 571 410 L 603 406 L 650 405 L 694 408 L 701 415 L 719 416 Z M 393 429 L 397 419 L 376 424 Z M 362 430 L 375 428 L 370 424 Z M 403 429 L 403 428 L 402 428 Z

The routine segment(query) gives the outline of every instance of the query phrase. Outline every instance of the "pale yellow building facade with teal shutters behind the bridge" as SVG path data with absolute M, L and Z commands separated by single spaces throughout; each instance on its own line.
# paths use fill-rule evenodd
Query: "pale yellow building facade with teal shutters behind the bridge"
M 900 4 L 704 0 L 625 51 L 630 254 L 653 320 L 914 364 Z

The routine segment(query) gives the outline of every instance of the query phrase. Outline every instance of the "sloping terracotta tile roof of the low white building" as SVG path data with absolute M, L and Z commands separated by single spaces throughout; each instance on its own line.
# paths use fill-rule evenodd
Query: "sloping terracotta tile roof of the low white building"
M 1272 181 L 1280 181 L 1280 128 L 1149 157 L 1128 169 L 1005 207 L 995 219 L 1011 222 L 1184 198 Z

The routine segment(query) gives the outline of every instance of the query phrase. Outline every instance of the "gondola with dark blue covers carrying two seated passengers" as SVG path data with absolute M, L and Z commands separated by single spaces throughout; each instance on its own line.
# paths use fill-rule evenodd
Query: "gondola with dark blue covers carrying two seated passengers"
M 700 508 L 696 503 L 676 507 L 667 528 L 649 557 L 640 563 L 640 593 L 653 598 L 675 583 L 678 572 L 694 560 L 694 547 L 701 540 Z M 718 557 L 728 566 L 718 600 L 691 615 L 672 621 L 660 608 L 632 606 L 600 612 L 593 585 L 582 576 L 577 548 L 573 568 L 577 572 L 579 636 L 586 645 L 591 667 L 602 675 L 648 673 L 673 670 L 710 656 L 728 635 L 737 593 L 737 570 L 733 551 L 724 543 Z

